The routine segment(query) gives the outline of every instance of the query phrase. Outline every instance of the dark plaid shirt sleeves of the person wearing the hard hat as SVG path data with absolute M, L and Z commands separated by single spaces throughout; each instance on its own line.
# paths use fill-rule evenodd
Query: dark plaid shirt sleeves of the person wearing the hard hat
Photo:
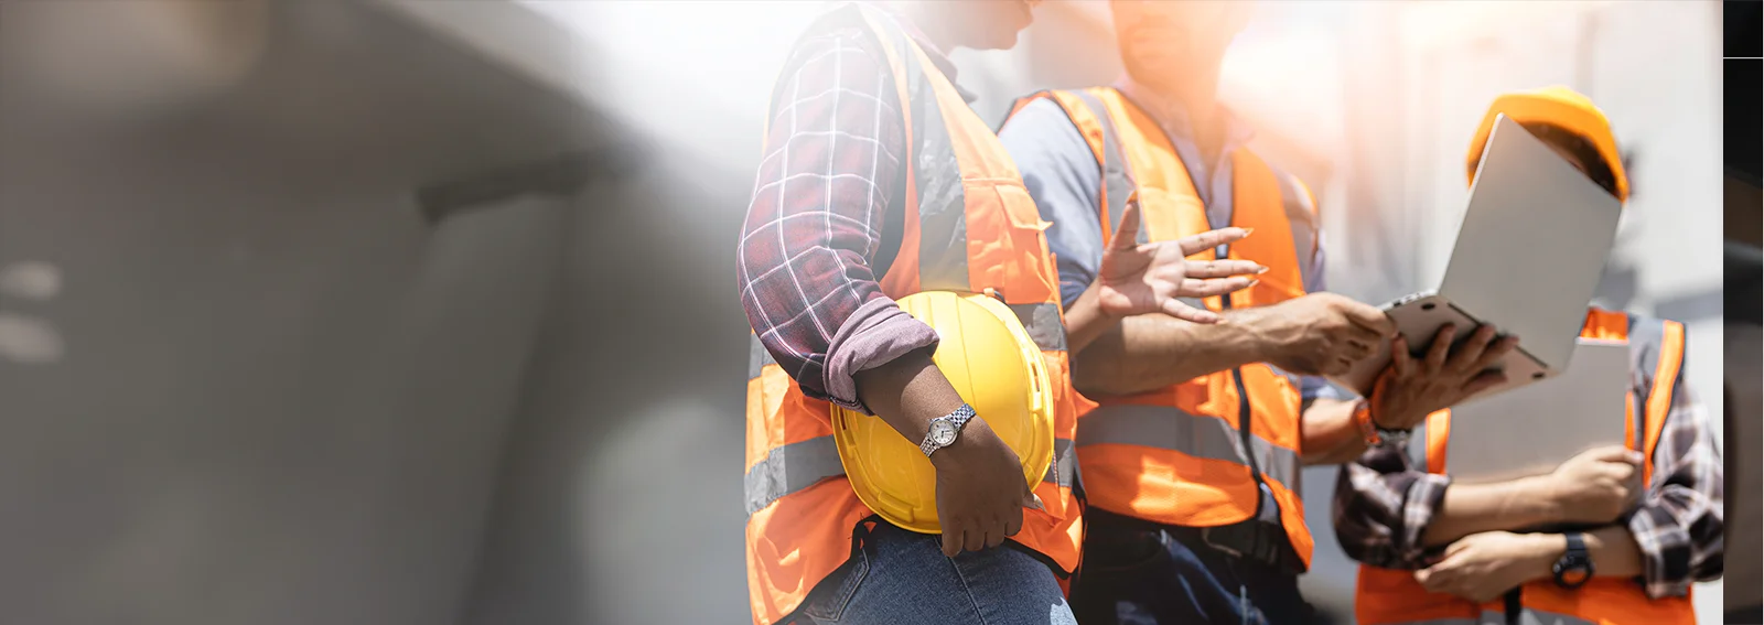
M 1422 546 L 1452 478 L 1416 468 L 1408 452 L 1367 450 L 1335 482 L 1335 538 L 1349 558 L 1385 569 L 1424 569 L 1438 549 Z M 1722 576 L 1722 454 L 1709 417 L 1683 373 L 1653 456 L 1641 507 L 1619 519 L 1642 553 L 1648 597 L 1683 597 L 1695 581 Z

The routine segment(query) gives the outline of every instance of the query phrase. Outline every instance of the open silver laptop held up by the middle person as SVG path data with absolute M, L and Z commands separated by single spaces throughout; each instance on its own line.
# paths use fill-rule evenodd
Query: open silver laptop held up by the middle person
M 1416 355 L 1446 323 L 1457 325 L 1459 341 L 1480 323 L 1519 335 L 1519 348 L 1498 365 L 1506 383 L 1482 395 L 1554 376 L 1573 357 L 1619 212 L 1616 196 L 1499 115 L 1445 279 L 1383 309 Z M 1388 362 L 1383 344 L 1335 381 L 1369 394 Z

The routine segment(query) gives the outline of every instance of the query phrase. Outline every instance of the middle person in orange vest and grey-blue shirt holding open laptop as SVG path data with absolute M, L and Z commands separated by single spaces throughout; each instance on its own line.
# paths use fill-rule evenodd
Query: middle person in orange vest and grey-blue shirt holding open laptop
M 1141 217 L 1143 240 L 1252 228 L 1205 256 L 1268 272 L 1205 302 L 1230 323 L 1138 316 L 1073 348 L 1074 385 L 1097 401 L 1078 420 L 1088 537 L 1073 607 L 1087 625 L 1305 623 L 1314 614 L 1297 576 L 1312 537 L 1300 466 L 1351 461 L 1365 433 L 1409 427 L 1498 383 L 1482 371 L 1514 343 L 1480 328 L 1452 371 L 1387 373 L 1369 399 L 1330 392 L 1321 376 L 1372 355 L 1394 327 L 1376 307 L 1321 293 L 1311 192 L 1247 150 L 1251 131 L 1215 99 L 1252 4 L 1117 0 L 1111 11 L 1127 76 L 1035 94 L 1000 131 L 1053 222 L 1062 300 L 1083 305 L 1104 249 L 1134 237 Z M 1134 192 L 1140 217 L 1125 214 Z

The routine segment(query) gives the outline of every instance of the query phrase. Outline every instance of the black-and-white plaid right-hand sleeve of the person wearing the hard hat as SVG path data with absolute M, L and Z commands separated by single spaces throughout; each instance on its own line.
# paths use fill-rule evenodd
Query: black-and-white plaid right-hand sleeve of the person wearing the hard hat
M 1690 584 L 1722 577 L 1722 452 L 1709 417 L 1683 374 L 1653 452 L 1653 480 L 1626 519 L 1642 553 L 1648 597 L 1683 597 Z

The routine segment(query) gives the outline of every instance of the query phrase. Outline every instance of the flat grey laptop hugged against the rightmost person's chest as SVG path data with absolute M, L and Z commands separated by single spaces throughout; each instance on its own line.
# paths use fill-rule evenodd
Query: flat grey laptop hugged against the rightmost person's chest
M 1581 339 L 1561 374 L 1452 408 L 1445 470 L 1459 484 L 1499 482 L 1623 445 L 1628 390 L 1628 344 Z

